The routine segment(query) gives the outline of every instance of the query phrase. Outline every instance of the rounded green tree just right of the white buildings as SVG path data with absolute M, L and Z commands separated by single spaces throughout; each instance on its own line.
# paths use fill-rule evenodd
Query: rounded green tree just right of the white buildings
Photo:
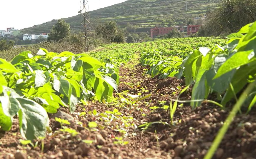
M 70 25 L 67 24 L 64 20 L 59 19 L 57 24 L 52 27 L 48 36 L 48 40 L 62 41 L 65 37 L 68 36 L 70 36 Z

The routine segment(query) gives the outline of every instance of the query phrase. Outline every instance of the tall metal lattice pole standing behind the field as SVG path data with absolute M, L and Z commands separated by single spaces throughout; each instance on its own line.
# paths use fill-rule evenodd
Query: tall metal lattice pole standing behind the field
M 85 50 L 89 50 L 91 40 L 89 39 L 91 35 L 90 31 L 90 15 L 89 15 L 89 3 L 88 0 L 80 0 L 80 11 L 81 14 L 81 33 L 85 37 Z

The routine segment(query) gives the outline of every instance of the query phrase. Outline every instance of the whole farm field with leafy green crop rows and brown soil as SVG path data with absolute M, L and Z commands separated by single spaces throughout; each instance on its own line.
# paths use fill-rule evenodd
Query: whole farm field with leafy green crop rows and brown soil
M 0 158 L 255 158 L 255 30 L 0 58 Z

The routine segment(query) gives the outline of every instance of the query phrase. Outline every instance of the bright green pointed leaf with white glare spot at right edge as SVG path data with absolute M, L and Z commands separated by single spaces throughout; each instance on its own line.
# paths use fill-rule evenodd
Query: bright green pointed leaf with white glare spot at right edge
M 218 72 L 216 73 L 213 79 L 216 79 L 235 68 L 238 68 L 240 66 L 243 66 L 249 63 L 250 59 L 253 56 L 254 56 L 254 52 L 252 50 L 235 53 L 233 56 L 227 59 L 227 61 L 222 66 L 220 66 Z

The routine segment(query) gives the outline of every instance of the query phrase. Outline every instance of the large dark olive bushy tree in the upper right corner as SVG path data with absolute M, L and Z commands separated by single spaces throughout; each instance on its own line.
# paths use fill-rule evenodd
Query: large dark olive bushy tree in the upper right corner
M 217 9 L 207 14 L 205 36 L 234 33 L 255 20 L 256 0 L 223 0 Z

